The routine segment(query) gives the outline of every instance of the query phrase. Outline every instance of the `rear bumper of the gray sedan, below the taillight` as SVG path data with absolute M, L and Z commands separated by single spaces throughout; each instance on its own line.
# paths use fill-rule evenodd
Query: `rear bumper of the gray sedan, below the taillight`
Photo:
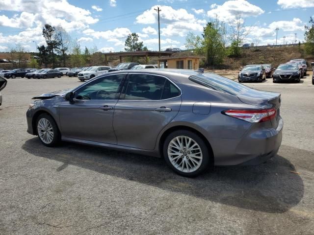
M 277 154 L 284 122 L 277 128 L 251 128 L 240 139 L 210 139 L 215 165 L 261 164 Z

